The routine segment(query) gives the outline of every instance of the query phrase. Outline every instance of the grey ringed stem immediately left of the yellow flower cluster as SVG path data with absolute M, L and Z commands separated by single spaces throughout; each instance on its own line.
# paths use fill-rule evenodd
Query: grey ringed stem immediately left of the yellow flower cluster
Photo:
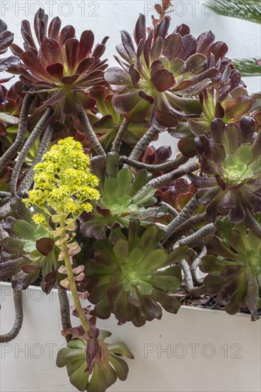
M 39 150 L 36 154 L 36 159 L 31 165 L 29 171 L 26 173 L 24 180 L 21 182 L 18 191 L 19 196 L 26 196 L 28 194 L 31 185 L 34 182 L 34 167 L 37 163 L 41 161 L 41 158 L 43 158 L 44 154 L 48 150 L 48 146 L 51 142 L 51 137 L 53 135 L 53 130 L 54 125 L 49 123 L 46 127 L 46 130 L 44 131 L 43 137 L 41 138 L 41 143 L 39 145 Z

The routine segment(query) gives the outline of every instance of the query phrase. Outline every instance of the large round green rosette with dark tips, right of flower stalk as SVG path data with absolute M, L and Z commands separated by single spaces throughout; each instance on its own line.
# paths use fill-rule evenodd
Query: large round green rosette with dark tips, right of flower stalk
M 82 289 L 88 290 L 96 316 L 108 319 L 113 313 L 118 324 L 143 326 L 160 319 L 162 307 L 177 313 L 181 302 L 173 293 L 180 288 L 181 270 L 176 264 L 188 256 L 188 249 L 168 254 L 160 245 L 163 232 L 153 224 L 142 227 L 139 220 L 131 220 L 125 233 L 114 246 L 108 239 L 97 240 L 95 259 L 87 261 Z

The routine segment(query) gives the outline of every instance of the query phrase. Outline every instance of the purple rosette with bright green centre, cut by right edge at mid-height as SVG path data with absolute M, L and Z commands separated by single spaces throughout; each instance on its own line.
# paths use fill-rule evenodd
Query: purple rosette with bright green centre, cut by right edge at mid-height
M 210 138 L 195 139 L 201 172 L 189 177 L 212 222 L 218 214 L 227 213 L 236 225 L 245 220 L 246 209 L 252 214 L 261 212 L 261 138 L 260 131 L 254 133 L 255 125 L 255 119 L 246 116 L 239 125 L 215 119 Z

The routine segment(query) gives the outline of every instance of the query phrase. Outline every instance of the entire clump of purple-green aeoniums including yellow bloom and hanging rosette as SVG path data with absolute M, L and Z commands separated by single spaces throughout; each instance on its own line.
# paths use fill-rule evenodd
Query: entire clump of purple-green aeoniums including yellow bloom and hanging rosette
M 103 59 L 107 37 L 76 39 L 42 9 L 34 29 L 22 22 L 24 48 L 0 24 L 1 54 L 14 53 L 1 71 L 20 78 L 0 91 L 0 277 L 16 310 L 0 341 L 21 329 L 22 290 L 58 288 L 56 364 L 79 391 L 124 381 L 133 359 L 97 318 L 140 327 L 210 299 L 260 318 L 261 96 L 211 31 L 170 31 L 169 8 L 152 27 L 140 15 L 134 39 L 122 31 L 117 67 Z M 176 158 L 150 145 L 163 131 L 179 139 Z

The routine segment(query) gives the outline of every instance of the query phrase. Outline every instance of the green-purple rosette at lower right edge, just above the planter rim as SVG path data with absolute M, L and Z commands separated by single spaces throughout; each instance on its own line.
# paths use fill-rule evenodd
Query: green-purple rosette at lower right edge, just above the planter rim
M 260 217 L 257 216 L 257 222 Z M 259 223 L 259 222 L 258 222 Z M 260 319 L 261 241 L 244 223 L 232 227 L 227 217 L 217 222 L 216 237 L 208 238 L 208 254 L 200 269 L 207 273 L 205 285 L 218 294 L 218 304 L 229 314 L 247 308 L 252 321 Z

